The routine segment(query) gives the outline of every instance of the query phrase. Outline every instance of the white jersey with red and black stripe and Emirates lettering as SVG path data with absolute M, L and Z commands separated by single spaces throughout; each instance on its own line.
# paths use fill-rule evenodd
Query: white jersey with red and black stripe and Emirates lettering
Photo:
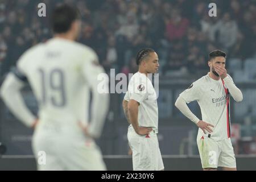
M 230 79 L 234 84 L 232 77 L 228 75 L 227 79 Z M 213 80 L 208 74 L 193 82 L 188 89 L 180 94 L 180 97 L 187 103 L 198 102 L 202 120 L 214 125 L 210 138 L 214 140 L 230 138 L 230 97 L 224 81 L 222 82 L 221 79 Z M 198 135 L 205 135 L 200 128 Z

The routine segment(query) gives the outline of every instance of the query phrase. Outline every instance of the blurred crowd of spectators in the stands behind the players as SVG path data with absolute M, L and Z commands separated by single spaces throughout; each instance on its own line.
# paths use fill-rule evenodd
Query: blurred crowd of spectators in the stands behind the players
M 46 17 L 38 16 L 40 2 L 46 3 Z M 243 75 L 242 69 L 256 64 L 254 0 L 3 0 L 1 75 L 15 65 L 27 48 L 51 38 L 48 18 L 52 7 L 61 2 L 80 10 L 79 42 L 98 53 L 106 72 L 110 68 L 115 68 L 116 73 L 136 72 L 135 56 L 142 47 L 158 52 L 159 73 L 166 76 L 186 77 L 207 70 L 208 53 L 214 49 L 228 53 L 227 67 L 240 70 L 238 77 Z M 217 17 L 208 15 L 210 2 L 217 5 Z M 248 66 L 246 61 L 250 62 Z M 255 77 L 251 73 L 245 80 Z

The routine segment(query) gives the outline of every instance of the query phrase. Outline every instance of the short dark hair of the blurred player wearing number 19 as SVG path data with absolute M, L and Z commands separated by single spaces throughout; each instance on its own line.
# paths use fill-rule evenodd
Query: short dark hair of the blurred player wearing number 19
M 71 24 L 80 18 L 79 10 L 67 4 L 62 4 L 52 11 L 51 28 L 54 33 L 65 33 L 71 28 Z

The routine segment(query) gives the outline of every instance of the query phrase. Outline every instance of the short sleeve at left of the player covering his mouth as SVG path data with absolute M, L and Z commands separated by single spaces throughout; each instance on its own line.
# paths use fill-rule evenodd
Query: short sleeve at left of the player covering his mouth
M 200 88 L 196 82 L 193 82 L 187 89 L 185 89 L 181 94 L 182 97 L 187 103 L 192 101 L 198 101 L 200 96 Z

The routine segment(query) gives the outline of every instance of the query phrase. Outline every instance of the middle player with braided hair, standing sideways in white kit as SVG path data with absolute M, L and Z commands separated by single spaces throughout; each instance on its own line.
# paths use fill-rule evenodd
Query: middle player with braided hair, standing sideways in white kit
M 129 82 L 123 100 L 123 110 L 129 123 L 128 141 L 133 151 L 133 170 L 163 170 L 163 160 L 158 143 L 157 95 L 149 73 L 158 72 L 158 55 L 144 48 L 137 54 L 139 71 Z

